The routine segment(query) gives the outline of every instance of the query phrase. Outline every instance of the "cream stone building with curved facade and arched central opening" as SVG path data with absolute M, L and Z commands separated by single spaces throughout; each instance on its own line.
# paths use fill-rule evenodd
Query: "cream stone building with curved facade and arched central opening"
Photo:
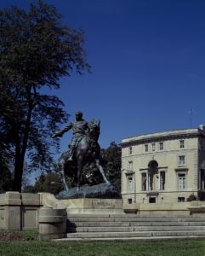
M 173 205 L 205 192 L 205 128 L 162 131 L 122 140 L 124 205 Z M 179 205 L 179 204 L 177 204 Z

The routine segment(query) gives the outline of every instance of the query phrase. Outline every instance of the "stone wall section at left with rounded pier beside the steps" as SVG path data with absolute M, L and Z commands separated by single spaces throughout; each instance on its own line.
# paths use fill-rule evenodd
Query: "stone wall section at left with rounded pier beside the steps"
M 38 229 L 41 239 L 62 238 L 66 218 L 65 205 L 49 193 L 0 194 L 0 229 Z

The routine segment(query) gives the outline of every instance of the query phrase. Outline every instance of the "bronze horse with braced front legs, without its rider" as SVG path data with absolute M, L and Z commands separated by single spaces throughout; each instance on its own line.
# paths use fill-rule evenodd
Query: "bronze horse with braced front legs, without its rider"
M 83 166 L 88 163 L 94 163 L 106 184 L 110 182 L 105 177 L 105 172 L 100 164 L 100 145 L 98 138 L 100 136 L 100 121 L 91 120 L 88 124 L 88 131 L 83 136 L 82 140 L 77 144 L 77 148 L 73 154 L 73 161 L 68 161 L 70 152 L 65 151 L 59 160 L 60 175 L 65 191 L 69 191 L 68 185 L 65 181 L 65 175 L 69 177 L 69 171 L 74 168 L 77 172 L 77 189 L 82 183 Z

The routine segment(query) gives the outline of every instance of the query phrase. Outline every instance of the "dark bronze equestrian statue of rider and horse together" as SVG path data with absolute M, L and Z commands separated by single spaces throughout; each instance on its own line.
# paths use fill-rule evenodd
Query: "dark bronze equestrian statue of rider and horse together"
M 94 163 L 103 177 L 105 183 L 110 182 L 105 177 L 103 167 L 100 165 L 100 145 L 98 138 L 100 136 L 100 121 L 91 120 L 89 123 L 83 119 L 83 113 L 76 113 L 76 120 L 66 125 L 65 128 L 52 137 L 62 137 L 65 131 L 73 131 L 73 137 L 67 151 L 59 159 L 59 168 L 66 191 L 69 190 L 65 182 L 65 175 L 69 176 L 69 170 L 75 168 L 77 172 L 77 188 L 79 189 L 82 182 L 83 166 L 88 163 Z

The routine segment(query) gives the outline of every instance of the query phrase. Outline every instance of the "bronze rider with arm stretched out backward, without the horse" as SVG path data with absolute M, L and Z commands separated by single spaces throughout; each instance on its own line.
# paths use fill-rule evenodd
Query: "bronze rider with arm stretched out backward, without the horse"
M 82 140 L 83 136 L 88 131 L 88 122 L 83 119 L 83 113 L 77 112 L 76 119 L 71 121 L 65 128 L 61 131 L 55 133 L 52 137 L 62 137 L 65 131 L 72 130 L 73 137 L 71 138 L 71 143 L 69 144 L 69 158 L 68 160 L 73 160 L 73 154 L 77 148 L 77 144 Z

